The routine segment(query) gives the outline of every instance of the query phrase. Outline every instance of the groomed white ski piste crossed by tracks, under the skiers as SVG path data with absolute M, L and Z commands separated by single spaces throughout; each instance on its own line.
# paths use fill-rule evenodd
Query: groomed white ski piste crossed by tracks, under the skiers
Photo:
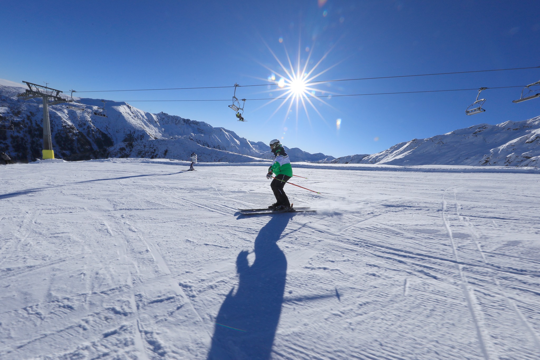
M 0 167 L 0 358 L 540 358 L 537 172 L 205 165 Z

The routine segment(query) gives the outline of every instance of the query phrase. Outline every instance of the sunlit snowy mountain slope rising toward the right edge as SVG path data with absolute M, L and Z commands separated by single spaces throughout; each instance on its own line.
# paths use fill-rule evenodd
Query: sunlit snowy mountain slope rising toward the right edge
M 353 155 L 330 162 L 389 165 L 540 165 L 540 117 L 480 124 L 413 139 L 373 155 Z

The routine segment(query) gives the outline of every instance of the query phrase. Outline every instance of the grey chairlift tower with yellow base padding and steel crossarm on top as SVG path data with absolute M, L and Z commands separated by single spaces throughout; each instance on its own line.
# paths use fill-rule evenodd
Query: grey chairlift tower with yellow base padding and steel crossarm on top
M 52 150 L 51 122 L 49 120 L 49 105 L 71 103 L 73 100 L 60 96 L 62 91 L 51 89 L 47 86 L 37 85 L 23 81 L 28 85 L 28 89 L 22 94 L 18 94 L 24 100 L 33 98 L 43 99 L 43 159 L 54 159 L 55 152 Z

